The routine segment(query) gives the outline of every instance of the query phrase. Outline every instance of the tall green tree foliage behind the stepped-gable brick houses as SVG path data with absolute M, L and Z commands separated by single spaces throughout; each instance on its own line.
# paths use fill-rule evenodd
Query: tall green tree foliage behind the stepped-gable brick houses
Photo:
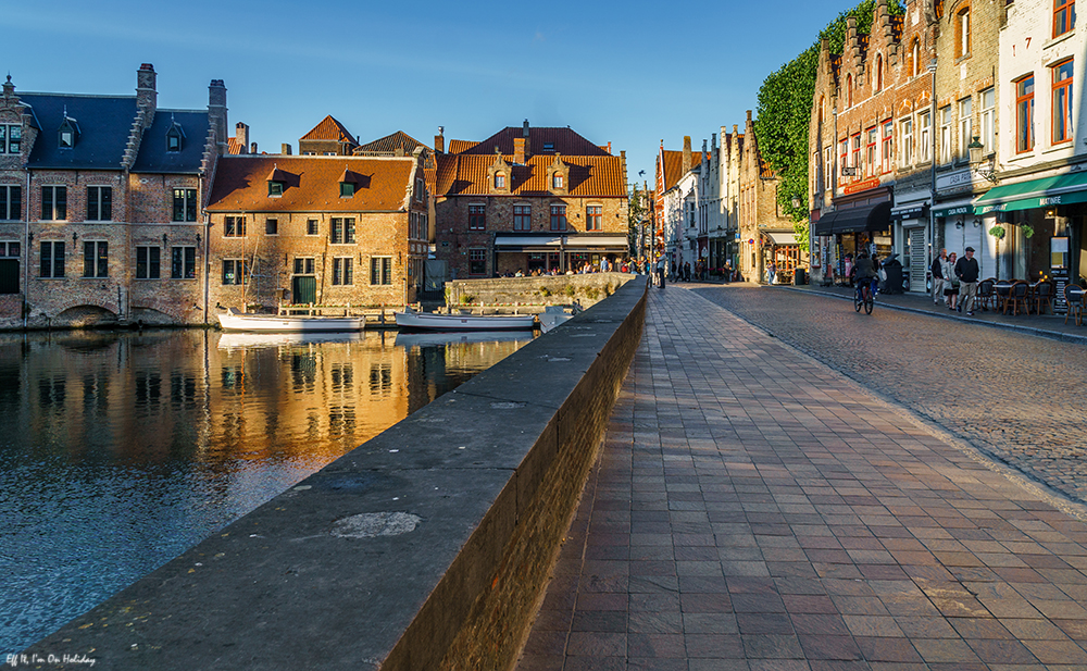
M 904 11 L 899 0 L 888 1 L 894 15 Z M 827 40 L 830 53 L 841 53 L 846 45 L 846 17 L 857 17 L 857 32 L 871 33 L 875 16 L 875 0 L 862 0 L 851 10 L 832 21 L 805 49 L 776 72 L 770 74 L 759 89 L 759 105 L 754 122 L 759 152 L 777 175 L 777 203 L 790 219 L 801 248 L 808 249 L 808 126 L 811 123 L 815 97 L 815 70 L 819 65 L 820 42 Z M 800 207 L 792 207 L 792 199 Z

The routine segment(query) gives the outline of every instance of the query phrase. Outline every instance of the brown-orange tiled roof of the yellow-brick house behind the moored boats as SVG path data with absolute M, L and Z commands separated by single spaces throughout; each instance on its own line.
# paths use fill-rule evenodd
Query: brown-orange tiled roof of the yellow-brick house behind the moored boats
M 415 161 L 378 157 L 223 157 L 208 210 L 211 212 L 390 212 L 404 207 Z M 345 170 L 354 173 L 355 191 L 340 198 Z M 267 176 L 285 183 L 271 198 Z

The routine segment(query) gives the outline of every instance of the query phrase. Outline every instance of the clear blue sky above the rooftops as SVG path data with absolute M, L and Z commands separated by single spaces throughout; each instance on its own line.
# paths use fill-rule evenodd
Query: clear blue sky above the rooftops
M 569 125 L 625 149 L 628 177 L 651 187 L 661 139 L 697 148 L 742 126 L 765 76 L 853 4 L 10 3 L 0 65 L 16 90 L 130 95 L 153 63 L 160 108 L 205 107 L 208 83 L 224 79 L 232 129 L 246 122 L 264 151 L 297 151 L 325 114 L 363 142 Z

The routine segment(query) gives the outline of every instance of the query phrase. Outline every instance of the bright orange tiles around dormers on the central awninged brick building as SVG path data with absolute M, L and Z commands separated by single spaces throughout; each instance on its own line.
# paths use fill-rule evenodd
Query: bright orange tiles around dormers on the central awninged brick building
M 502 157 L 513 163 L 513 156 Z M 434 192 L 438 196 L 489 195 L 487 169 L 495 154 L 439 154 Z M 623 165 L 619 157 L 562 157 L 570 169 L 569 194 L 574 197 L 626 196 Z M 526 165 L 513 165 L 510 185 L 512 196 L 549 196 L 547 169 L 554 163 L 552 156 L 533 156 Z

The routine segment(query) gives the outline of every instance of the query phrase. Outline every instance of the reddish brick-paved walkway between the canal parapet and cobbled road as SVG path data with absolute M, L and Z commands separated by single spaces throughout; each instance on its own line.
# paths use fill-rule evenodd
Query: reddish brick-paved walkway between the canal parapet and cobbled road
M 520 671 L 1087 669 L 1087 524 L 650 291 Z

